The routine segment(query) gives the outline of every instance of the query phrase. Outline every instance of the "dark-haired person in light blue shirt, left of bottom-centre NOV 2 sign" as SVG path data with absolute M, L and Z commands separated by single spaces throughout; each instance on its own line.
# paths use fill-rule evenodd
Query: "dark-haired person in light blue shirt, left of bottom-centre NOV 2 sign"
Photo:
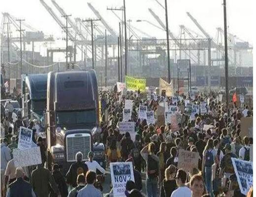
M 100 190 L 94 187 L 96 181 L 96 173 L 93 171 L 88 171 L 85 176 L 86 185 L 84 188 L 79 190 L 77 197 L 102 197 Z

